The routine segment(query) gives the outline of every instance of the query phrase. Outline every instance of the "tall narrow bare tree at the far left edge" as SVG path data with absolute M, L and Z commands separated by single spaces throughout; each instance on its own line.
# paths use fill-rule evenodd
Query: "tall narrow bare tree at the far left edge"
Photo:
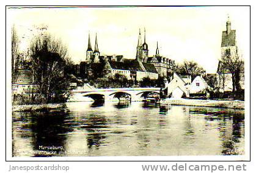
M 12 82 L 15 81 L 15 71 L 18 69 L 19 55 L 18 55 L 19 39 L 15 29 L 12 26 Z

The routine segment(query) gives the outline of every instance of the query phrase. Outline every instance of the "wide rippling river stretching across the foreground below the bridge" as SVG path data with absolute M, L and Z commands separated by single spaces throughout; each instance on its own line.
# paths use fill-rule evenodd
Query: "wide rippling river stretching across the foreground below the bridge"
M 69 102 L 12 128 L 13 157 L 244 154 L 244 110 Z

